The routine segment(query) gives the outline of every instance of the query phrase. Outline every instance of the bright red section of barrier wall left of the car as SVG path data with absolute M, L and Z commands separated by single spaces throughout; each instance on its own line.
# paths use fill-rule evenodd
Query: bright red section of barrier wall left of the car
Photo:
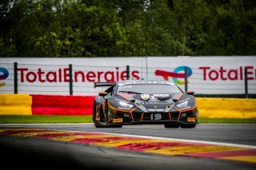
M 95 96 L 32 96 L 32 115 L 92 115 Z

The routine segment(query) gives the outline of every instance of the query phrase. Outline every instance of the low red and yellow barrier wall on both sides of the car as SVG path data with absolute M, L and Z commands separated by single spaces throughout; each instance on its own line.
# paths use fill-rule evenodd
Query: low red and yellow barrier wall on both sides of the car
M 256 118 L 256 99 L 198 97 L 198 117 Z M 94 96 L 0 94 L 0 115 L 92 115 Z

